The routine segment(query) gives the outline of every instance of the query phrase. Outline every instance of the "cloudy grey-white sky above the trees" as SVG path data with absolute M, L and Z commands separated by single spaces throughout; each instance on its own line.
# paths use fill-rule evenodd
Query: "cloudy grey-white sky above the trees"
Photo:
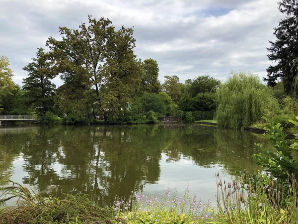
M 59 26 L 77 28 L 107 17 L 116 27 L 134 26 L 135 53 L 159 64 L 159 79 L 178 75 L 181 82 L 200 75 L 224 80 L 231 70 L 266 76 L 266 47 L 282 14 L 278 0 L 0 0 L 0 55 L 14 70 L 22 68 L 59 38 Z M 59 79 L 55 83 L 61 85 Z

